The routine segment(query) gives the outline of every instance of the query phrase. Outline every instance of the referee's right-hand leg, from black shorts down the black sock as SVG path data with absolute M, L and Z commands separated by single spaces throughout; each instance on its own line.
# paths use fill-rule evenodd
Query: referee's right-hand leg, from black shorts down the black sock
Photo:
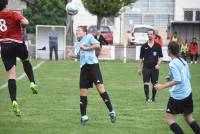
M 151 83 L 152 83 L 152 102 L 155 102 L 155 97 L 156 97 L 156 89 L 155 89 L 155 85 L 158 83 L 158 77 L 159 77 L 159 70 L 158 69 L 154 69 L 151 72 Z

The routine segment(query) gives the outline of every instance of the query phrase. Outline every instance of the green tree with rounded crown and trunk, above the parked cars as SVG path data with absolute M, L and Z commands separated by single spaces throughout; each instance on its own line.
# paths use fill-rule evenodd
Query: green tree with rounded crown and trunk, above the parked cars
M 82 0 L 84 7 L 97 16 L 97 29 L 100 28 L 103 17 L 118 16 L 122 7 L 136 0 Z

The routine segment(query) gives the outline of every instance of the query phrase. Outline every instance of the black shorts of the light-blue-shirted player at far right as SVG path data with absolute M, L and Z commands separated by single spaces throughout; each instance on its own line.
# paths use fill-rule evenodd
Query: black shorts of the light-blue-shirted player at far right
M 190 114 L 193 112 L 192 93 L 183 100 L 176 100 L 172 97 L 169 98 L 167 104 L 167 113 L 170 114 Z

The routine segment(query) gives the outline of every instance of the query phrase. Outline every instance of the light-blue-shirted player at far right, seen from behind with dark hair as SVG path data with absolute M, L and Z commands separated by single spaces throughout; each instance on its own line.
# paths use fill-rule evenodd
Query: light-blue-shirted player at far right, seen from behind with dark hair
M 184 134 L 181 127 L 175 121 L 177 114 L 183 114 L 185 121 L 190 125 L 194 133 L 200 134 L 199 125 L 192 117 L 193 100 L 189 66 L 185 60 L 179 57 L 179 45 L 176 42 L 169 43 L 168 55 L 172 58 L 172 61 L 169 63 L 169 74 L 166 77 L 168 82 L 156 84 L 155 86 L 157 91 L 171 87 L 166 110 L 167 124 L 175 134 Z

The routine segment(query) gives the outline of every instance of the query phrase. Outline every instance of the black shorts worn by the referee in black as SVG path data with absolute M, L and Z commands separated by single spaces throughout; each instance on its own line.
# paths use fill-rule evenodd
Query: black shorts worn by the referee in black
M 144 83 L 150 82 L 150 80 L 152 84 L 158 83 L 158 76 L 159 76 L 158 69 L 143 68 L 142 74 Z

